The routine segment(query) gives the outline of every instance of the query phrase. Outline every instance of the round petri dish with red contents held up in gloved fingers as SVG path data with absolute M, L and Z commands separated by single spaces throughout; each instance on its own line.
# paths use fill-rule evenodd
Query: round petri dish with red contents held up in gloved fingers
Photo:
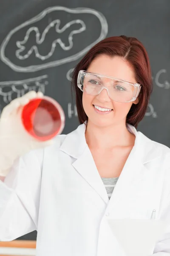
M 61 134 L 65 126 L 62 107 L 48 96 L 31 99 L 23 107 L 21 118 L 26 131 L 40 141 Z

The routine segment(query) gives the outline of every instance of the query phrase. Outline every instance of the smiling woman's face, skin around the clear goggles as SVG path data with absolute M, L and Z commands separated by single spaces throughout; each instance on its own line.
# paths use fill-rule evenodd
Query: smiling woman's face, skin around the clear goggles
M 134 83 L 137 82 L 133 68 L 126 60 L 119 56 L 110 57 L 108 55 L 99 55 L 91 62 L 87 71 Z M 125 124 L 126 116 L 131 105 L 137 104 L 138 102 L 138 98 L 135 102 L 115 102 L 108 96 L 106 89 L 103 89 L 101 93 L 96 96 L 88 95 L 85 92 L 82 94 L 82 104 L 88 116 L 88 122 L 102 127 L 121 123 Z M 112 111 L 104 113 L 97 110 L 94 106 L 112 109 Z

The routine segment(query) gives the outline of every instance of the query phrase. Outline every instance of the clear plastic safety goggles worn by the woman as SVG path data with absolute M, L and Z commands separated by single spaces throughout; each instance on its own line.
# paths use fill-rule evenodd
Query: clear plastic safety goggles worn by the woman
M 131 83 L 85 70 L 79 71 L 77 86 L 82 92 L 89 95 L 99 95 L 105 89 L 108 92 L 108 96 L 116 102 L 135 101 L 141 88 L 141 85 L 137 83 Z

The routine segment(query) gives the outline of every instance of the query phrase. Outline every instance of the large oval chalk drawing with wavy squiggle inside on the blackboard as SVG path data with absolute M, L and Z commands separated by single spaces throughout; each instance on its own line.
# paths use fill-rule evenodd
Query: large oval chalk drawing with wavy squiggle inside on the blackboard
M 14 71 L 36 72 L 77 60 L 107 33 L 102 13 L 53 6 L 12 29 L 0 46 L 0 58 Z

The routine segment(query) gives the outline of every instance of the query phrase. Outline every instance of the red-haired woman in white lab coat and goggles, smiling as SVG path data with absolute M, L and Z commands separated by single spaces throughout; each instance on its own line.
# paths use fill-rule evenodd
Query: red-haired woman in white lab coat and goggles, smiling
M 144 46 L 125 36 L 99 42 L 75 67 L 73 88 L 81 125 L 52 145 L 20 124 L 35 92 L 3 110 L 0 241 L 37 230 L 37 256 L 125 256 L 108 218 L 154 212 L 168 224 L 149 253 L 170 255 L 170 149 L 136 131 L 152 90 Z

